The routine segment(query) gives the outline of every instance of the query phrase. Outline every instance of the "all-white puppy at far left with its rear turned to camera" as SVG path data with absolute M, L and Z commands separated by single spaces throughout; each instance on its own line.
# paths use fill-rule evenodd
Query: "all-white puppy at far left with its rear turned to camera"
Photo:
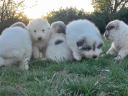
M 0 36 L 0 66 L 18 64 L 22 70 L 29 68 L 32 42 L 29 32 L 21 27 L 6 28 Z

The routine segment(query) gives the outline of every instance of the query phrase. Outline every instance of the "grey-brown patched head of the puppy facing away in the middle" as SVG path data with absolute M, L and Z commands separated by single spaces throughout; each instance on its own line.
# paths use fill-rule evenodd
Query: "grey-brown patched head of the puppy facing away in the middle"
M 65 34 L 66 25 L 63 21 L 56 21 L 51 24 L 51 31 Z

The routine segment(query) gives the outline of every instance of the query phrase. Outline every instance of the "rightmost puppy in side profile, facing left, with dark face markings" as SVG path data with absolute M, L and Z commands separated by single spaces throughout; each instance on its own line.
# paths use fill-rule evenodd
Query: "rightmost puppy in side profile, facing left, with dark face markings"
M 122 60 L 128 55 L 128 25 L 121 20 L 108 23 L 104 36 L 112 41 L 107 54 L 116 55 L 115 60 Z

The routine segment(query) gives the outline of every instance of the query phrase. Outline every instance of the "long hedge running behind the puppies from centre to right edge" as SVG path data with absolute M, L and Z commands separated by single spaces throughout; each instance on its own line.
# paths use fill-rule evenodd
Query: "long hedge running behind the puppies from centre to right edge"
M 91 14 L 85 13 L 83 10 L 76 8 L 60 9 L 59 11 L 52 11 L 47 15 L 47 20 L 52 23 L 54 21 L 62 20 L 65 24 L 68 24 L 72 20 L 76 19 L 88 19 L 95 23 L 103 34 L 106 24 L 114 19 L 120 19 L 128 23 L 128 9 L 121 9 L 117 13 L 109 14 L 108 12 L 93 12 Z

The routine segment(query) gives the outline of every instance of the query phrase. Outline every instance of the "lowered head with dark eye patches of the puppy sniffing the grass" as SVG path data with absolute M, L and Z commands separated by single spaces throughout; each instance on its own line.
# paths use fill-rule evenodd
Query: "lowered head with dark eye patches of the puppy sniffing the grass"
M 76 43 L 80 53 L 86 58 L 97 58 L 102 53 L 103 42 L 82 38 Z

